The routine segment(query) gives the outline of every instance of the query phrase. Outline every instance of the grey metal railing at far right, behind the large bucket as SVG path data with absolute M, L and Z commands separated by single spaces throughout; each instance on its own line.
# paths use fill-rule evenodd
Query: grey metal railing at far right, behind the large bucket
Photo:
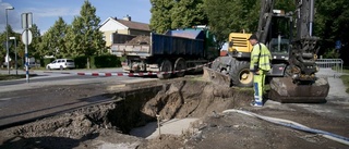
M 333 69 L 336 72 L 342 73 L 341 59 L 317 59 L 316 62 L 320 69 Z

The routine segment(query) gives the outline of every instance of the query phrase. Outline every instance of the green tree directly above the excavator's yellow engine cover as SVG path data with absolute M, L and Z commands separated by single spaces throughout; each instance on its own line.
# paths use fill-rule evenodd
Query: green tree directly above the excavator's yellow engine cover
M 218 41 L 227 41 L 232 32 L 256 32 L 258 5 L 253 0 L 204 0 L 208 25 Z

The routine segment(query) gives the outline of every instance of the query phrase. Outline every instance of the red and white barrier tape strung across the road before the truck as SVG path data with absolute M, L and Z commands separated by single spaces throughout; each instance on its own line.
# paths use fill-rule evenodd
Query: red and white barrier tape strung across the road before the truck
M 198 67 L 203 67 L 206 65 L 212 64 L 213 62 L 208 62 L 206 64 L 196 65 L 194 67 L 185 69 L 185 70 L 178 70 L 178 71 L 170 71 L 170 72 L 146 72 L 146 73 L 72 73 L 72 72 L 44 72 L 44 73 L 56 73 L 56 74 L 75 74 L 75 75 L 86 75 L 86 76 L 151 76 L 157 74 L 176 74 L 181 72 L 186 72 L 191 70 L 196 70 Z

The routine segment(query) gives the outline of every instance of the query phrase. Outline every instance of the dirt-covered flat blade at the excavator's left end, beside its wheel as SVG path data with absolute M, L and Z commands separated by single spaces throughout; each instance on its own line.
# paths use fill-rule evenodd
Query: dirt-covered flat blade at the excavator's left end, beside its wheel
M 221 74 L 220 72 L 208 69 L 206 66 L 204 66 L 203 78 L 225 87 L 230 87 L 230 83 L 231 83 L 230 76 Z

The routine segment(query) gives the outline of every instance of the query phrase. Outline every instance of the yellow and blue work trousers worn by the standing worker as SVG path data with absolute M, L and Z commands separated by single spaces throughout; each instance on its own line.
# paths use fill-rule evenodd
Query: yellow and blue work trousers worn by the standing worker
M 260 70 L 258 74 L 253 75 L 254 104 L 263 105 L 263 92 L 266 71 Z

